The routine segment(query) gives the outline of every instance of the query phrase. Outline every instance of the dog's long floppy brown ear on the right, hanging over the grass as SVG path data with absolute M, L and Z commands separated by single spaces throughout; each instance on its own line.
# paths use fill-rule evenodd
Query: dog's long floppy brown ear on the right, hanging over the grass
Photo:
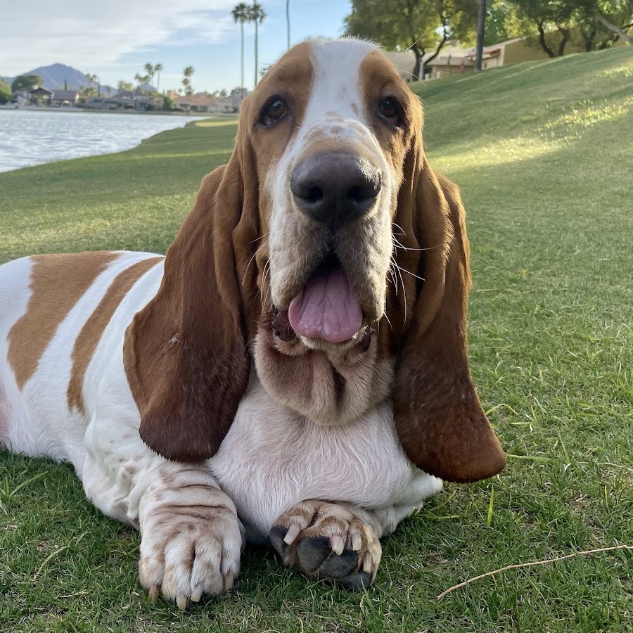
M 482 411 L 466 356 L 471 287 L 459 190 L 423 158 L 414 191 L 413 230 L 424 282 L 395 373 L 395 426 L 409 459 L 442 479 L 485 479 L 506 456 Z

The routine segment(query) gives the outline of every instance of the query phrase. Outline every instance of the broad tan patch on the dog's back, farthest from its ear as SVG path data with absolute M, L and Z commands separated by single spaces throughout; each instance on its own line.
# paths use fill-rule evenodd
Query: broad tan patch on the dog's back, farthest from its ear
M 37 369 L 59 324 L 117 257 L 119 253 L 110 251 L 31 257 L 31 298 L 7 336 L 7 358 L 20 390 Z

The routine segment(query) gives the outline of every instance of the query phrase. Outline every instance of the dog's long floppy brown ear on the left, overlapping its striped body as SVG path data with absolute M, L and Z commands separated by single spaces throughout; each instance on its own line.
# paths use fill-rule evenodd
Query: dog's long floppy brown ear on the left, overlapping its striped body
M 232 243 L 241 191 L 234 155 L 203 180 L 167 250 L 157 295 L 125 333 L 124 367 L 141 437 L 168 459 L 215 454 L 248 382 Z

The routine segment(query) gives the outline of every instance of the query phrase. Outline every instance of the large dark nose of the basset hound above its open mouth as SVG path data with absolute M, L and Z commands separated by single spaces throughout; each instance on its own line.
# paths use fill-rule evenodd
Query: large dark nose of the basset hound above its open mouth
M 293 169 L 290 191 L 302 212 L 338 229 L 369 212 L 381 180 L 381 172 L 357 155 L 315 154 Z

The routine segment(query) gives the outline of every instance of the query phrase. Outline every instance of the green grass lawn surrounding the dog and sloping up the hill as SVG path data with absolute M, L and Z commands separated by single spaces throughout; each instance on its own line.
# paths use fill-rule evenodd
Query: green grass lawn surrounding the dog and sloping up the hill
M 182 614 L 148 605 L 139 536 L 90 506 L 72 468 L 3 454 L 0 630 L 633 628 L 631 551 L 511 570 L 435 600 L 511 563 L 633 544 L 633 48 L 414 89 L 430 160 L 468 210 L 471 364 L 506 470 L 447 485 L 402 523 L 366 594 L 249 548 L 236 591 Z M 164 251 L 234 132 L 198 124 L 129 152 L 0 174 L 0 261 Z

